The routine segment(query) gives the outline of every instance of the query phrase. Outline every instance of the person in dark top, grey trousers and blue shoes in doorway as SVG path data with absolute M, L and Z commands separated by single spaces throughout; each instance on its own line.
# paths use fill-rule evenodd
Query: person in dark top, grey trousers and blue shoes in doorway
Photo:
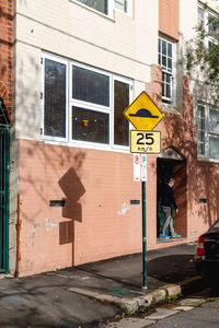
M 160 238 L 169 238 L 169 236 L 165 234 L 165 230 L 168 227 L 170 227 L 172 238 L 181 237 L 181 235 L 175 233 L 173 227 L 172 210 L 175 210 L 176 213 L 178 212 L 173 192 L 174 183 L 174 178 L 170 177 L 162 190 L 161 208 L 164 213 L 164 224 L 162 227 L 162 233 L 160 234 Z

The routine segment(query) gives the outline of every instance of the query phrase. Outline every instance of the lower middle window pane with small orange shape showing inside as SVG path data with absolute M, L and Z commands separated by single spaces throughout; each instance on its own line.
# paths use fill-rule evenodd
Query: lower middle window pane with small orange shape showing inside
M 72 140 L 110 142 L 110 115 L 72 107 Z

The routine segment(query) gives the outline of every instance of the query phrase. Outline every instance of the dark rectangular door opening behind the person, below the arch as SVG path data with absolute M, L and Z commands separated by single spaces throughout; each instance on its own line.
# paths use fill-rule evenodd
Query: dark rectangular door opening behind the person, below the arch
M 182 236 L 186 235 L 186 161 L 185 160 L 174 160 L 174 159 L 157 159 L 157 236 L 159 237 L 163 223 L 164 215 L 161 209 L 161 190 L 163 185 L 170 177 L 174 177 L 174 196 L 177 206 L 183 202 L 184 204 L 184 215 L 180 213 L 181 222 L 177 224 L 176 220 L 174 220 L 174 229 Z M 183 198 L 182 198 L 183 197 Z M 173 218 L 174 218 L 174 213 Z M 178 214 L 177 214 L 178 216 Z M 177 220 L 180 221 L 180 220 Z M 170 232 L 166 230 L 166 234 Z

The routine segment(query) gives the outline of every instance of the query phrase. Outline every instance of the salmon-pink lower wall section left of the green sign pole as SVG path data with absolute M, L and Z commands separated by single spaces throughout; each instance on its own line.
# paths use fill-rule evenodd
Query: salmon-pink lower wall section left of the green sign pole
M 25 140 L 20 153 L 19 276 L 140 251 L 130 154 Z

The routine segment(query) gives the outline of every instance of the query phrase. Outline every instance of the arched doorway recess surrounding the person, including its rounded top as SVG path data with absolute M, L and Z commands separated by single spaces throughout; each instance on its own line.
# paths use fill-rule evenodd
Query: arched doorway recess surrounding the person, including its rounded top
M 163 223 L 164 214 L 161 209 L 161 190 L 170 177 L 174 177 L 174 196 L 178 207 L 178 213 L 173 214 L 174 230 L 182 237 L 187 236 L 187 175 L 186 160 L 175 149 L 163 151 L 157 159 L 157 237 L 159 237 Z M 170 232 L 166 231 L 169 235 Z

